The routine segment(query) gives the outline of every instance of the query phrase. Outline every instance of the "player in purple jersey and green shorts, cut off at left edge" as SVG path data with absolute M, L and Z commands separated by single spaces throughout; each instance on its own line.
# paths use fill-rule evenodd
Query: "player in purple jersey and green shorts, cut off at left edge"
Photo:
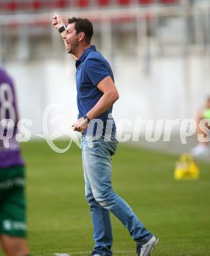
M 0 68 L 0 241 L 6 255 L 29 256 L 24 161 L 16 141 L 17 123 L 14 84 Z

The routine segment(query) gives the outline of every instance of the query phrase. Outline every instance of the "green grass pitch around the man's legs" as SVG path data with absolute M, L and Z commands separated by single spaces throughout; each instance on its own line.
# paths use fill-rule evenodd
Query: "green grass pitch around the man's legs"
M 90 251 L 92 224 L 79 148 L 57 154 L 46 142 L 27 142 L 22 151 L 33 255 Z M 200 163 L 198 181 L 175 181 L 175 161 L 177 156 L 122 144 L 113 158 L 114 189 L 160 238 L 152 255 L 210 255 L 210 165 Z M 114 216 L 112 221 L 114 255 L 136 255 L 128 231 Z

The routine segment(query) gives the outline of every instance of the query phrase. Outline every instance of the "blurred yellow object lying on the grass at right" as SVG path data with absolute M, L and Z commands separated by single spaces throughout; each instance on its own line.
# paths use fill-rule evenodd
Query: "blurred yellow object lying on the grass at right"
M 190 180 L 199 178 L 199 168 L 192 155 L 183 154 L 177 163 L 174 171 L 174 178 L 177 180 Z

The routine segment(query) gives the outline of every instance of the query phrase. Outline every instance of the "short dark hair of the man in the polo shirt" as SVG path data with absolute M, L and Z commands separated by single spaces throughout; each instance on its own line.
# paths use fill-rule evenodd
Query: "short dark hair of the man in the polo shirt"
M 94 34 L 93 24 L 87 18 L 69 18 L 68 24 L 75 23 L 75 30 L 77 35 L 80 32 L 84 32 L 84 40 L 86 43 L 90 43 L 92 35 Z

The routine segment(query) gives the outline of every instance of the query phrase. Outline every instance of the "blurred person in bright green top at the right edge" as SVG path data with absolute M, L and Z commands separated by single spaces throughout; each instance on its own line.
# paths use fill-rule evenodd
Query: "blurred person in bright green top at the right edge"
M 210 121 L 210 96 L 207 96 L 204 106 L 200 108 L 196 117 L 197 133 L 206 138 L 210 136 L 210 126 L 208 123 L 200 123 L 203 119 Z M 209 142 L 199 142 L 197 146 L 192 148 L 191 153 L 193 156 L 210 155 Z

